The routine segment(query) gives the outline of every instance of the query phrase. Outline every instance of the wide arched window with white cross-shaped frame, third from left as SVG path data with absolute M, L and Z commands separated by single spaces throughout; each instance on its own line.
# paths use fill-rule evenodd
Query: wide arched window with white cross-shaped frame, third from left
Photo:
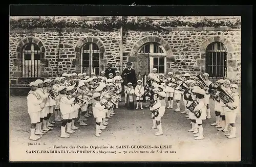
M 166 53 L 160 44 L 150 42 L 144 44 L 139 50 L 140 54 L 148 54 L 148 73 L 157 68 L 158 73 L 166 73 Z

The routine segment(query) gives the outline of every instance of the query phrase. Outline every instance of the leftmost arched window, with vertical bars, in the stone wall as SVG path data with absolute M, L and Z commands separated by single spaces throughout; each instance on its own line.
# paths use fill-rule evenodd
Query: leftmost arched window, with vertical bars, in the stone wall
M 28 43 L 22 50 L 22 76 L 40 77 L 40 48 L 35 43 Z

